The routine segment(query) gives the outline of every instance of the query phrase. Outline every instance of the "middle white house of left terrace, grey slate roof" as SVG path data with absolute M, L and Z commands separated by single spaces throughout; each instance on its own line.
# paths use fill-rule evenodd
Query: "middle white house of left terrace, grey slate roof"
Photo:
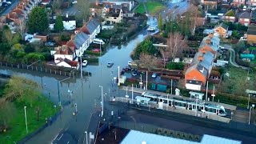
M 74 46 L 75 46 L 75 53 L 78 57 L 81 57 L 84 51 L 90 45 L 90 36 L 85 34 L 84 32 L 79 32 L 74 36 Z

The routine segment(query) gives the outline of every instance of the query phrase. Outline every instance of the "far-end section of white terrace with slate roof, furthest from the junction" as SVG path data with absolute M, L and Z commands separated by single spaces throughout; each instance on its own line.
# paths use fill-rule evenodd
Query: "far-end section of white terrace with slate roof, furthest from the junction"
M 101 27 L 100 23 L 92 18 L 87 22 L 80 30 L 75 31 L 75 34 L 79 31 L 82 31 L 85 34 L 88 34 L 90 36 L 90 43 L 94 41 L 94 38 L 97 34 L 100 33 Z

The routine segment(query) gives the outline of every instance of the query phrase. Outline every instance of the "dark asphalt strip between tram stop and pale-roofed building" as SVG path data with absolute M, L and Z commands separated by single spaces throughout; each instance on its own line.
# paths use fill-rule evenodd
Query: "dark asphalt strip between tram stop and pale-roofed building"
M 127 110 L 126 114 L 121 116 L 121 122 L 118 122 L 118 126 L 127 129 L 142 127 L 140 128 L 142 131 L 154 130 L 156 127 L 161 127 L 201 136 L 203 134 L 210 134 L 222 138 L 231 138 L 242 141 L 243 143 L 256 142 L 255 134 L 248 134 L 239 130 L 230 130 L 214 125 L 214 123 L 212 123 L 210 127 L 207 127 L 204 126 L 204 124 L 194 122 L 194 119 L 190 119 L 190 121 L 182 120 L 184 117 L 186 116 L 179 115 L 178 118 L 167 117 L 164 114 Z

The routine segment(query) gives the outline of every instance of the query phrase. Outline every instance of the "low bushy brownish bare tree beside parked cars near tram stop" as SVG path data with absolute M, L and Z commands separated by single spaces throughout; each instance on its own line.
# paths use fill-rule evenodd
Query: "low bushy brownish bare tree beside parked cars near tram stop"
M 148 71 L 158 65 L 158 58 L 154 58 L 154 56 L 150 54 L 142 53 L 139 57 L 139 61 Z

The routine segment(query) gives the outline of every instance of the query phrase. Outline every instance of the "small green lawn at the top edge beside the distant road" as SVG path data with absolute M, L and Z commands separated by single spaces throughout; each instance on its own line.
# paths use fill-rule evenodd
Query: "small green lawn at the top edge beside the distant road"
M 160 2 L 146 2 L 146 9 L 153 15 L 160 13 L 165 8 L 166 6 Z

